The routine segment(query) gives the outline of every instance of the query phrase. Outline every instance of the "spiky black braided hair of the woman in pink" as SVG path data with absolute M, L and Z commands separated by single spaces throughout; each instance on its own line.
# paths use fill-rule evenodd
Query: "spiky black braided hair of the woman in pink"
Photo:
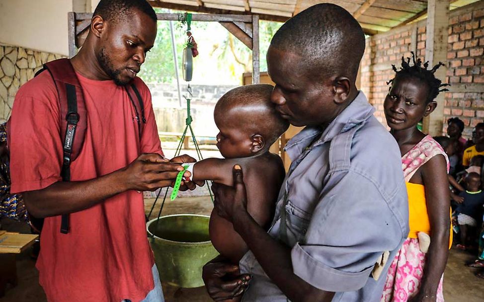
M 437 97 L 439 92 L 442 91 L 449 91 L 449 89 L 441 87 L 450 86 L 449 84 L 442 84 L 442 81 L 435 77 L 434 73 L 439 69 L 439 67 L 445 65 L 442 62 L 435 65 L 432 69 L 427 70 L 428 68 L 428 61 L 423 63 L 421 59 L 415 59 L 415 54 L 411 52 L 412 59 L 413 59 L 413 66 L 410 66 L 410 58 L 402 57 L 402 67 L 400 70 L 397 69 L 395 65 L 392 65 L 392 69 L 396 73 L 395 77 L 392 78 L 387 82 L 387 84 L 391 84 L 395 81 L 397 77 L 401 76 L 412 76 L 422 80 L 428 86 L 428 96 L 427 96 L 427 103 L 431 102 L 433 99 Z

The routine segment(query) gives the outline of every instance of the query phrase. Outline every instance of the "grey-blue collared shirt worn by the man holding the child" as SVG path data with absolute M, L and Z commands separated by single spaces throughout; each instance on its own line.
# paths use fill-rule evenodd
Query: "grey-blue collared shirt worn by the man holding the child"
M 333 301 L 380 301 L 408 234 L 400 150 L 373 112 L 360 92 L 324 131 L 307 127 L 285 148 L 293 162 L 269 234 L 292 247 L 294 274 L 336 292 Z M 377 281 L 372 270 L 385 251 Z M 252 252 L 240 266 L 252 275 L 244 302 L 287 301 Z

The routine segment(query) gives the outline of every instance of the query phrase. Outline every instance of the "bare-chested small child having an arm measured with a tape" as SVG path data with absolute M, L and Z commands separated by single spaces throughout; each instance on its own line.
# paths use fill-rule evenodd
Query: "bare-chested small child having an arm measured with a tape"
M 247 185 L 247 210 L 265 228 L 272 222 L 285 176 L 281 158 L 270 153 L 269 148 L 289 127 L 270 101 L 272 89 L 267 84 L 241 86 L 220 98 L 214 119 L 220 130 L 217 148 L 225 158 L 201 160 L 194 164 L 192 171 L 193 180 L 213 180 L 232 186 L 232 169 L 240 164 Z M 210 238 L 222 256 L 234 264 L 247 251 L 232 223 L 215 211 L 210 217 Z

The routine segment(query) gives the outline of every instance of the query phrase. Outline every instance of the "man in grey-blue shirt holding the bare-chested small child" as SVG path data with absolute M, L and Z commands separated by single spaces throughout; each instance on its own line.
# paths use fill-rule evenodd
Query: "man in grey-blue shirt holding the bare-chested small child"
M 204 267 L 215 300 L 380 301 L 408 234 L 408 203 L 397 143 L 355 86 L 364 48 L 358 22 L 327 3 L 274 35 L 271 99 L 291 124 L 307 127 L 286 145 L 292 164 L 268 232 L 246 211 L 239 166 L 234 187 L 214 186 L 217 213 L 249 248 L 237 277 L 220 258 Z

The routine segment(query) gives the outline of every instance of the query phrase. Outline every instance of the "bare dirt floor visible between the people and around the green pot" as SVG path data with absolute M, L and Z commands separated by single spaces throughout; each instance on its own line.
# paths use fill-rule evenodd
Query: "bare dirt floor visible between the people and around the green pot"
M 154 199 L 147 199 L 145 210 L 148 213 Z M 161 202 L 157 202 L 152 218 L 158 215 Z M 162 215 L 170 214 L 203 214 L 210 215 L 212 202 L 209 197 L 181 197 L 173 202 L 169 200 L 163 207 Z M 3 229 L 28 232 L 28 228 L 12 224 L 6 220 L 1 222 Z M 18 285 L 8 288 L 0 302 L 45 302 L 45 294 L 38 283 L 38 272 L 35 262 L 26 250 L 17 257 Z M 444 297 L 446 302 L 482 302 L 484 301 L 484 279 L 473 275 L 473 271 L 464 266 L 465 262 L 473 259 L 473 255 L 452 249 L 445 270 Z M 210 302 L 205 288 L 180 289 L 163 284 L 166 302 Z

